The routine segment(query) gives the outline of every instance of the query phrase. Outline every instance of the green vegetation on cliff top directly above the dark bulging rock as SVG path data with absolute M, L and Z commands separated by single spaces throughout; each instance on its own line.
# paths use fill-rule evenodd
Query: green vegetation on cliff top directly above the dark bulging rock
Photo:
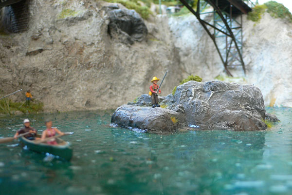
M 143 19 L 148 19 L 149 15 L 152 14 L 147 6 L 141 6 L 137 0 L 105 0 L 111 3 L 121 3 L 128 9 L 135 10 Z

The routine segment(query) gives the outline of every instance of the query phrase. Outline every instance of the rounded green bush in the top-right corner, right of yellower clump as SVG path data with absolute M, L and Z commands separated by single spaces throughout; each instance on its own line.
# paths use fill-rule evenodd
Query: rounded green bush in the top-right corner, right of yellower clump
M 274 0 L 266 2 L 264 5 L 267 6 L 267 12 L 274 18 L 287 18 L 292 22 L 292 14 L 289 9 L 285 7 L 282 3 L 278 3 Z

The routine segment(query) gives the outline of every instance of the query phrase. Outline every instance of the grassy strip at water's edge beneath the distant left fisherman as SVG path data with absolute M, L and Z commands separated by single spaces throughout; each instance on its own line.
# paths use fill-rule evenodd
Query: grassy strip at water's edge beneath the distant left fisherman
M 12 115 L 16 111 L 22 113 L 38 113 L 43 111 L 42 102 L 31 102 L 30 105 L 25 104 L 24 102 L 13 102 L 9 98 L 3 98 L 0 100 L 0 113 Z

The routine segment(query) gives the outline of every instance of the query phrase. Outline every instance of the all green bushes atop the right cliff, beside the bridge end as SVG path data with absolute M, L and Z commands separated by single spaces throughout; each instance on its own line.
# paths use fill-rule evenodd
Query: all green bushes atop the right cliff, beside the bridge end
M 292 22 L 292 14 L 289 12 L 289 9 L 286 8 L 282 3 L 278 3 L 274 0 L 268 1 L 263 5 L 256 5 L 253 8 L 253 11 L 248 13 L 247 19 L 258 22 L 265 10 L 267 10 L 267 12 L 273 18 L 286 18 Z

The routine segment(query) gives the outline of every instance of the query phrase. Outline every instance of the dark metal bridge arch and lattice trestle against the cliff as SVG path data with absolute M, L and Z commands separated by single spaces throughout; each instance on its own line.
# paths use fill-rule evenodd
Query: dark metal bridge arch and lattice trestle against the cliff
M 242 67 L 245 73 L 242 56 L 242 15 L 252 11 L 253 3 L 250 0 L 198 0 L 194 10 L 186 0 L 180 1 L 197 17 L 213 40 L 226 73 L 232 77 L 229 69 L 238 66 Z M 203 15 L 212 15 L 213 21 L 205 20 L 207 17 Z

